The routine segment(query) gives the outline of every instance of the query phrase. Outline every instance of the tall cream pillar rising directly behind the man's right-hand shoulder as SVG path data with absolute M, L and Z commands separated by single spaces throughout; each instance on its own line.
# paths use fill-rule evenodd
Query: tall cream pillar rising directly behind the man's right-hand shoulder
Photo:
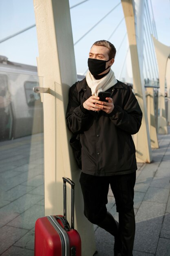
M 150 144 L 150 135 L 148 127 L 148 117 L 146 110 L 146 96 L 144 90 L 144 81 L 141 79 L 142 70 L 140 70 L 138 51 L 137 51 L 137 34 L 135 27 L 135 10 L 133 0 L 121 0 L 128 32 L 128 40 L 130 47 L 130 54 L 132 60 L 132 74 L 133 74 L 133 88 L 135 95 L 143 112 L 142 124 L 137 135 L 134 135 L 134 142 L 136 146 L 137 162 L 152 161 L 152 150 Z

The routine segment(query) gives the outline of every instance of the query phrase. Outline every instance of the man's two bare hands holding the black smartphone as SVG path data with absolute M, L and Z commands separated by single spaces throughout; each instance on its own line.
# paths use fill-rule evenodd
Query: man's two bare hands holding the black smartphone
M 105 101 L 99 101 L 99 97 L 97 96 L 91 96 L 86 101 L 84 101 L 83 106 L 87 110 L 93 110 L 93 111 L 99 111 L 103 110 L 107 114 L 110 114 L 114 109 L 113 99 L 112 98 L 106 98 L 108 102 Z

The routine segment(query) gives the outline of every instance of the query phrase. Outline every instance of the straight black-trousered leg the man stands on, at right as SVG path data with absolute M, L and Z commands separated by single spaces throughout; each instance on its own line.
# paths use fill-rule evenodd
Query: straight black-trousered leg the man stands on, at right
M 132 256 L 135 238 L 135 214 L 133 210 L 135 180 L 136 172 L 115 175 L 110 179 L 110 186 L 119 212 L 121 256 Z

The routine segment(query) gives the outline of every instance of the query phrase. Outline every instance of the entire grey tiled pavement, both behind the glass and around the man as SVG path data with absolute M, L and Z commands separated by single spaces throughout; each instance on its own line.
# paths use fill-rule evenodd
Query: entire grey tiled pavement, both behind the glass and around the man
M 170 256 L 170 127 L 159 135 L 151 164 L 138 164 L 134 256 Z M 33 256 L 35 220 L 44 215 L 43 135 L 0 143 L 0 255 Z M 115 201 L 108 195 L 115 218 Z M 114 239 L 94 226 L 98 256 L 112 256 Z M 88 256 L 88 255 L 87 255 Z

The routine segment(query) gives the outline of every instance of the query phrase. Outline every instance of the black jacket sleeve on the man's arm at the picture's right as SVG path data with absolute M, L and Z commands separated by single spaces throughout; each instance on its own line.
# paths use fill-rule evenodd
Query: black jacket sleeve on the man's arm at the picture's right
M 130 87 L 124 101 L 124 107 L 115 105 L 109 117 L 115 126 L 132 135 L 139 131 L 142 111 Z

